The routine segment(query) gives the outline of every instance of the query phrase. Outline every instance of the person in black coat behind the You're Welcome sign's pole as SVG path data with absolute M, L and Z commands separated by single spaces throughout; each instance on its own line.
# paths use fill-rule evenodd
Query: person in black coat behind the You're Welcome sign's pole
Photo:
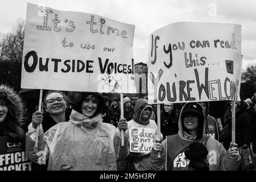
M 224 147 L 228 148 L 228 143 L 232 140 L 232 102 L 229 102 L 230 107 L 226 111 L 225 120 L 228 123 L 224 127 L 220 135 L 220 142 L 224 142 Z M 236 143 L 238 147 L 242 147 L 245 145 L 250 146 L 251 143 L 251 118 L 247 113 L 247 104 L 245 101 L 236 101 L 235 104 L 236 109 Z

